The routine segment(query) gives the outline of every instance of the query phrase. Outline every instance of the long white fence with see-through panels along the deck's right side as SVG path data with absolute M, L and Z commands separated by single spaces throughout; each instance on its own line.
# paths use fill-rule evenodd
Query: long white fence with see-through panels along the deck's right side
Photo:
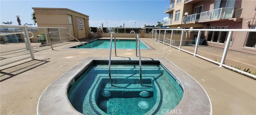
M 153 31 L 153 34 L 152 34 L 153 40 L 156 40 L 156 41 L 166 44 L 168 46 L 172 46 L 173 48 L 184 51 L 188 54 L 192 54 L 193 56 L 200 57 L 200 58 L 210 61 L 212 63 L 216 63 L 217 65 L 219 65 L 219 67 L 226 67 L 228 69 L 232 69 L 234 71 L 237 71 L 239 73 L 242 73 L 244 75 L 252 77 L 253 79 L 256 79 L 255 73 L 251 74 L 248 71 L 243 71 L 242 69 L 246 69 L 246 68 L 241 69 L 241 66 L 239 67 L 239 65 L 226 64 L 226 61 L 225 61 L 227 59 L 226 57 L 228 54 L 228 49 L 229 49 L 230 42 L 232 40 L 232 36 L 233 36 L 234 32 L 256 32 L 256 29 L 153 29 L 152 31 Z M 224 48 L 219 48 L 219 50 L 217 49 L 218 52 L 206 50 L 207 46 L 200 47 L 200 48 L 204 49 L 204 51 L 202 51 L 202 52 L 204 52 L 204 54 L 207 54 L 208 52 L 210 52 L 208 54 L 220 57 L 221 59 L 219 61 L 217 60 L 217 58 L 213 59 L 212 57 L 204 56 L 203 53 L 198 54 L 198 48 L 199 48 L 199 46 L 200 46 L 199 44 L 201 42 L 200 41 L 201 35 L 202 35 L 202 33 L 207 33 L 208 31 L 216 32 L 216 33 L 226 32 L 227 38 L 226 38 L 225 43 L 222 44 L 224 46 Z M 190 33 L 190 32 L 197 32 L 196 38 L 199 38 L 199 39 L 194 40 L 195 43 L 192 45 L 188 44 L 189 42 L 192 43 L 192 41 L 187 40 L 188 33 Z M 193 36 L 193 38 L 194 38 L 194 36 Z M 206 42 L 207 42 L 207 40 L 206 40 Z M 254 48 L 254 50 L 255 50 L 255 48 Z M 232 52 L 233 51 L 230 50 L 230 53 L 232 53 Z M 220 53 L 220 54 L 218 54 L 218 53 Z M 218 56 L 218 55 L 220 55 L 220 56 Z M 241 63 L 244 63 L 245 66 L 246 66 L 246 64 L 250 65 L 250 67 L 251 67 L 250 69 L 255 69 L 255 67 L 256 67 L 256 63 L 254 62 L 254 61 L 256 61 L 255 55 L 254 54 L 247 54 L 247 55 L 250 55 L 252 60 L 249 60 L 248 63 L 241 61 Z M 235 57 L 235 58 L 237 58 L 237 57 Z M 247 57 L 240 57 L 240 58 L 241 58 L 241 60 L 243 60 L 242 58 L 247 58 Z

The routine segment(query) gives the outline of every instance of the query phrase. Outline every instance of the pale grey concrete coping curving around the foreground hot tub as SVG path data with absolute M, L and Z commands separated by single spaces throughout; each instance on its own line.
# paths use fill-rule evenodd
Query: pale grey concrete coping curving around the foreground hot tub
M 108 57 L 87 57 L 80 61 L 68 71 L 55 79 L 42 92 L 38 99 L 36 114 L 78 114 L 68 99 L 68 89 L 74 83 L 74 78 L 80 75 L 88 68 L 88 65 L 93 63 L 93 60 L 108 60 Z M 138 57 L 112 57 L 112 60 L 138 60 Z M 170 110 L 162 109 L 159 112 L 162 114 L 185 114 L 185 115 L 212 115 L 212 104 L 210 98 L 204 88 L 185 71 L 177 67 L 174 63 L 166 58 L 146 58 L 141 60 L 158 60 L 166 67 L 182 84 L 183 97 L 178 106 Z M 196 92 L 196 93 L 195 93 Z

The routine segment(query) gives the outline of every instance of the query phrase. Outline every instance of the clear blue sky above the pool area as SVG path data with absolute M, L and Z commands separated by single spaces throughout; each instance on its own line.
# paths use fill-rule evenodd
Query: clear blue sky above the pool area
M 68 8 L 86 14 L 90 27 L 101 23 L 104 27 L 123 26 L 123 23 L 125 27 L 141 27 L 145 23 L 156 26 L 168 16 L 164 14 L 168 5 L 170 0 L 0 0 L 0 25 L 2 22 L 18 25 L 16 15 L 20 16 L 22 25 L 34 24 L 32 7 L 39 7 Z

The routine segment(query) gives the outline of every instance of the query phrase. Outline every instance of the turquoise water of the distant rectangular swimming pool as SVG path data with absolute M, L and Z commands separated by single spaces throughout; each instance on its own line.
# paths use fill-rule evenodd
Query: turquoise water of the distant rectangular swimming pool
M 79 46 L 78 48 L 84 48 L 84 46 Z M 109 49 L 110 40 L 96 40 L 85 44 L 85 48 Z M 112 48 L 115 48 L 114 40 L 112 42 Z M 116 49 L 136 49 L 136 40 L 116 40 Z M 140 49 L 148 49 L 148 47 L 140 41 Z

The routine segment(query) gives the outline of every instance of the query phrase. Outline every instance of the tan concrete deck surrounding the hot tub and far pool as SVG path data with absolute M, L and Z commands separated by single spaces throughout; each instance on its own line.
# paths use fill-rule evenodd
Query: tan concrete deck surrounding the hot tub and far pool
M 142 57 L 165 57 L 202 85 L 210 97 L 213 115 L 256 115 L 255 79 L 218 67 L 150 38 L 140 39 L 155 48 L 141 50 Z M 34 48 L 35 60 L 1 67 L 1 79 L 6 79 L 0 82 L 0 114 L 35 115 L 41 93 L 56 78 L 86 57 L 109 56 L 108 49 L 69 48 L 79 44 L 54 44 L 54 50 L 50 46 Z M 120 57 L 136 57 L 135 55 L 135 50 L 117 50 L 117 56 Z M 239 57 L 239 54 L 233 55 Z M 114 50 L 112 56 L 114 57 Z

